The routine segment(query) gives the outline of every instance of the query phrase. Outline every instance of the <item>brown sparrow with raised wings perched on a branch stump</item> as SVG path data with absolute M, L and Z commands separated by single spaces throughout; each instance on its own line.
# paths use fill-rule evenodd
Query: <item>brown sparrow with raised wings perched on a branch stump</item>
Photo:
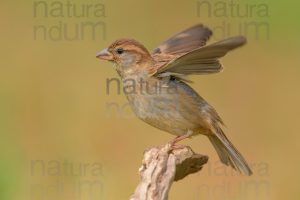
M 247 162 L 222 131 L 216 110 L 188 85 L 188 75 L 222 71 L 218 59 L 246 43 L 238 36 L 205 46 L 211 35 L 207 27 L 196 25 L 166 40 L 152 53 L 133 39 L 119 39 L 97 58 L 114 63 L 138 118 L 176 135 L 173 144 L 206 135 L 222 163 L 251 175 Z

